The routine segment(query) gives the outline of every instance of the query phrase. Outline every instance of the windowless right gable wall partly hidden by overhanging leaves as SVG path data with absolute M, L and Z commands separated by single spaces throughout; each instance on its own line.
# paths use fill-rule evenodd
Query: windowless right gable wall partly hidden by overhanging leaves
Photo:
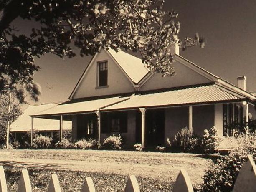
M 199 73 L 193 71 L 187 66 L 175 61 L 173 63 L 176 75 L 172 77 L 162 77 L 161 73 L 155 73 L 142 87 L 141 91 L 172 88 L 188 85 L 196 85 L 203 83 L 210 83 L 211 81 Z

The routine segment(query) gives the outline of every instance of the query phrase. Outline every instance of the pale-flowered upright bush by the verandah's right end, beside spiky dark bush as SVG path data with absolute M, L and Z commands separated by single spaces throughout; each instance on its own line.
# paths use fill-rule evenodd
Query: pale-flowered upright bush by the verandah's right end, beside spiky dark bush
M 221 139 L 218 137 L 218 129 L 213 126 L 212 128 L 204 130 L 203 138 L 201 141 L 201 147 L 203 151 L 207 154 L 215 152 L 219 144 L 221 143 Z

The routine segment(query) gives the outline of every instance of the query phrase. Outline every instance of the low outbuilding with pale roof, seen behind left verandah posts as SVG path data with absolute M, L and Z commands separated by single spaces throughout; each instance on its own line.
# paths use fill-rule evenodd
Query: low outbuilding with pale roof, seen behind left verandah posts
M 31 131 L 30 115 L 50 109 L 58 104 L 59 103 L 49 103 L 28 106 L 28 108 L 23 111 L 23 114 L 10 125 L 10 133 L 13 134 L 13 139 L 19 141 L 24 134 Z M 36 118 L 33 119 L 33 126 L 34 131 L 51 137 L 60 130 L 59 120 L 54 119 Z M 71 121 L 63 121 L 63 130 L 71 130 Z

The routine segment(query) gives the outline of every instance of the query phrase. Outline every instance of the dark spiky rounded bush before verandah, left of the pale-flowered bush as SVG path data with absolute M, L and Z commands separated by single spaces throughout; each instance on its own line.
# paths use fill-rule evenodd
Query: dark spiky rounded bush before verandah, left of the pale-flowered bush
M 198 147 L 198 137 L 195 136 L 187 127 L 181 129 L 174 137 L 172 147 L 184 152 L 191 152 Z

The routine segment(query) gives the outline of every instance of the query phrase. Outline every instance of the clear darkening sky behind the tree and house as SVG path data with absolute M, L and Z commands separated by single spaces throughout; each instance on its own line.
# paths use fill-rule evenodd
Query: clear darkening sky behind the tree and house
M 256 91 L 255 0 L 166 0 L 164 7 L 179 13 L 180 38 L 197 32 L 205 37 L 205 48 L 188 48 L 181 56 L 235 85 L 237 76 L 246 76 L 246 90 Z M 13 25 L 29 33 L 38 24 L 18 18 Z M 90 59 L 51 53 L 36 58 L 41 67 L 34 76 L 42 92 L 38 103 L 66 101 Z

